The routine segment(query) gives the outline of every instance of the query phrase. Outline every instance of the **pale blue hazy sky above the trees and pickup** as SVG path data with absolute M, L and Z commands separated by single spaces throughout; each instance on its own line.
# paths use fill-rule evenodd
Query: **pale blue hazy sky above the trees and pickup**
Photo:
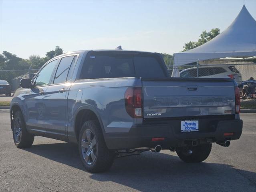
M 256 18 L 256 0 L 245 0 Z M 22 58 L 113 49 L 166 52 L 183 49 L 204 30 L 225 30 L 243 0 L 219 1 L 0 1 L 0 52 Z

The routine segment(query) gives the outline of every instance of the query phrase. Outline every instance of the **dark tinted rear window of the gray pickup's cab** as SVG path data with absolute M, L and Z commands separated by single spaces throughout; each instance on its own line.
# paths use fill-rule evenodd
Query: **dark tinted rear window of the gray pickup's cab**
M 165 77 L 165 73 L 154 54 L 91 52 L 80 75 L 80 79 L 119 77 Z

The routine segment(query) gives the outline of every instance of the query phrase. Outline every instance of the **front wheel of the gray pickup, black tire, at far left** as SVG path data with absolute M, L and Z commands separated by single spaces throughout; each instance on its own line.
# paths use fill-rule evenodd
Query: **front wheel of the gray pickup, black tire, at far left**
M 32 146 L 34 142 L 34 136 L 27 132 L 26 124 L 20 110 L 16 111 L 14 114 L 12 136 L 14 144 L 18 148 L 28 148 Z

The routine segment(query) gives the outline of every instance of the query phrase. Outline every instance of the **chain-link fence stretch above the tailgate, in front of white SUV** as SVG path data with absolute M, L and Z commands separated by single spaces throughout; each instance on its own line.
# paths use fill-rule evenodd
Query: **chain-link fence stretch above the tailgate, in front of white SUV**
M 181 78 L 234 78 L 238 83 L 256 79 L 256 63 L 177 66 Z M 173 66 L 167 66 L 171 76 Z

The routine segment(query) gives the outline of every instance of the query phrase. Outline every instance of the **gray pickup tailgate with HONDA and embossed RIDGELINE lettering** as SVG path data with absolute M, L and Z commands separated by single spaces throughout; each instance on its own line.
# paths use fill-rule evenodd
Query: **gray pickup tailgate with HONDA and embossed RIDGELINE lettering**
M 226 78 L 141 78 L 143 118 L 235 114 L 235 89 Z

